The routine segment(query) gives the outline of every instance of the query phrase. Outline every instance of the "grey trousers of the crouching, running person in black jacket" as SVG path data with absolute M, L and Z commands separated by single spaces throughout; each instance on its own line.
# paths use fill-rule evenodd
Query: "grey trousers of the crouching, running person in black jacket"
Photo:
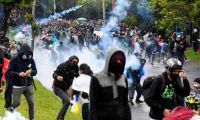
M 67 95 L 67 92 L 59 87 L 54 86 L 54 93 L 62 100 L 63 106 L 61 107 L 58 116 L 64 119 L 67 109 L 70 105 L 70 99 Z

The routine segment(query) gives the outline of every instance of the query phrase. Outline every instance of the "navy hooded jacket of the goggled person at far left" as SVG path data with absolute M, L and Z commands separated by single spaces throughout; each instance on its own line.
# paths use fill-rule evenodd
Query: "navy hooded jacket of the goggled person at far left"
M 31 57 L 23 60 L 23 53 L 29 53 L 29 55 L 33 56 L 30 46 L 28 44 L 24 44 L 19 53 L 11 59 L 6 76 L 9 76 L 12 79 L 12 86 L 30 86 L 33 84 L 32 77 L 20 77 L 20 72 L 26 72 L 27 70 L 31 69 L 31 76 L 35 76 L 37 74 L 37 69 L 33 58 Z

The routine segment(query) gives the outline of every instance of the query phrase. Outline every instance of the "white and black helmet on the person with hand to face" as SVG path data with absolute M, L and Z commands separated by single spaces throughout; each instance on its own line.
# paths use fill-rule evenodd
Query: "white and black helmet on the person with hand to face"
M 182 63 L 178 59 L 170 58 L 167 60 L 166 69 L 182 69 Z

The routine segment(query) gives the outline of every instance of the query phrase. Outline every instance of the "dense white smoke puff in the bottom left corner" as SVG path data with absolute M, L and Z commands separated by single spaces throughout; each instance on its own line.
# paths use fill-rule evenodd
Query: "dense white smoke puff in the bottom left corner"
M 27 120 L 26 118 L 24 118 L 20 113 L 18 112 L 9 112 L 6 111 L 5 116 L 4 117 L 0 117 L 0 120 Z

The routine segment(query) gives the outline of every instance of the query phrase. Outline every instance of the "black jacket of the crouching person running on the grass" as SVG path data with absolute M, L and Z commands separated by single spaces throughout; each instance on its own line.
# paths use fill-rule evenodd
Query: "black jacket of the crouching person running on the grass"
M 63 81 L 58 81 L 57 77 L 62 76 Z M 58 65 L 57 69 L 53 73 L 54 83 L 53 86 L 59 87 L 66 91 L 72 85 L 74 77 L 78 77 L 78 65 L 72 67 L 69 60 Z

